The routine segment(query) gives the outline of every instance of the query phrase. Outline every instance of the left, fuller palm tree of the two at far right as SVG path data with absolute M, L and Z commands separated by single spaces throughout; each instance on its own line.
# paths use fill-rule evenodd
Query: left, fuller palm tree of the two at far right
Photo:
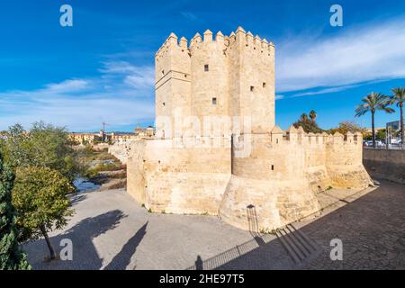
M 374 127 L 374 114 L 378 110 L 388 113 L 395 112 L 392 108 L 388 107 L 391 104 L 390 96 L 374 93 L 368 94 L 362 99 L 360 105 L 356 107 L 356 117 L 363 116 L 366 112 L 372 113 L 372 131 L 373 131 L 373 147 L 375 148 L 375 127 Z

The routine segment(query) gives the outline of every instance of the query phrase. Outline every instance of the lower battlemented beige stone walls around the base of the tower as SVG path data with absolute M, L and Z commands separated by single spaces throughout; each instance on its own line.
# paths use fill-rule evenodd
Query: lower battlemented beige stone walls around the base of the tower
M 217 140 L 200 138 L 191 147 L 184 138 L 134 142 L 128 193 L 152 211 L 219 215 L 240 229 L 249 229 L 251 207 L 259 229 L 276 229 L 315 215 L 315 193 L 329 186 L 371 184 L 360 134 L 307 134 L 293 127 L 285 133 L 275 127 L 233 139 L 249 148 L 242 157 L 228 138 L 212 148 Z

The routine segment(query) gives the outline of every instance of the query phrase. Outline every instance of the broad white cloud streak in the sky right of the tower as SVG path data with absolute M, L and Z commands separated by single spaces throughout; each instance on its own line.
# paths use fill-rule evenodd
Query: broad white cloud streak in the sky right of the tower
M 366 81 L 405 77 L 403 27 L 405 19 L 397 19 L 347 27 L 329 39 L 299 37 L 282 42 L 276 53 L 277 91 L 342 89 Z

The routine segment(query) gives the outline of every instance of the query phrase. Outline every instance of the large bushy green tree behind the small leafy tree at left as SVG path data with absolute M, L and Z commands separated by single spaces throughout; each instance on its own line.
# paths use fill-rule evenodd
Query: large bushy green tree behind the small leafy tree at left
M 65 128 L 36 122 L 30 131 L 16 124 L 8 130 L 4 144 L 7 163 L 14 168 L 44 166 L 58 170 L 73 181 L 78 164 Z

